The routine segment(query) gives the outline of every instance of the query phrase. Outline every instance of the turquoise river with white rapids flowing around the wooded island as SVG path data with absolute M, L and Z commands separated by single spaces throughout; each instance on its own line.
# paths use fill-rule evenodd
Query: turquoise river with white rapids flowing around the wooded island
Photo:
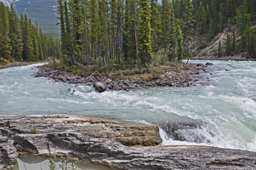
M 36 66 L 41 64 L 1 69 L 0 116 L 113 117 L 159 126 L 162 145 L 209 145 L 256 152 L 256 62 L 208 62 L 213 66 L 203 76 L 209 78 L 209 86 L 101 94 L 90 86 L 34 78 Z

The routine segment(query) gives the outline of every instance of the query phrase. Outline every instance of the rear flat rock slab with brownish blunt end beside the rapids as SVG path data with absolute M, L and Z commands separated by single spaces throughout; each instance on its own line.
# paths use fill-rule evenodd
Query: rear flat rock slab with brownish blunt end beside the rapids
M 70 115 L 22 115 L 1 116 L 0 132 L 5 136 L 31 133 L 34 123 L 40 134 L 52 132 L 78 132 L 95 138 L 116 140 L 123 145 L 159 145 L 162 139 L 159 128 L 143 123 L 114 118 Z

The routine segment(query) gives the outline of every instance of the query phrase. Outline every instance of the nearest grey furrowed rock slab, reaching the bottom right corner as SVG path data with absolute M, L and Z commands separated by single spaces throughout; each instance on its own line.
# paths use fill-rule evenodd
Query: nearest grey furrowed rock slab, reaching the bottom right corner
M 256 169 L 256 152 L 208 146 L 128 147 L 81 133 L 16 134 L 17 150 L 69 155 L 117 169 Z

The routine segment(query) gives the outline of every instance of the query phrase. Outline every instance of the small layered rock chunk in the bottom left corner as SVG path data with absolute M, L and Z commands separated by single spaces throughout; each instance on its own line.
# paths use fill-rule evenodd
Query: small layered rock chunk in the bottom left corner
M 8 141 L 7 137 L 0 134 L 0 169 L 12 169 L 17 162 L 18 153 L 15 149 L 13 141 Z

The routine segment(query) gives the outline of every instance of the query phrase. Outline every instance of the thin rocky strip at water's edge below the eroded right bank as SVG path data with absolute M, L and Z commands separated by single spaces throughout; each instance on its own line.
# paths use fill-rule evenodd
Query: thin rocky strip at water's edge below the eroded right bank
M 216 57 L 216 56 L 197 56 L 193 57 L 190 60 L 222 60 L 222 61 L 256 61 L 256 59 L 242 57 L 242 56 L 224 56 L 224 57 Z

